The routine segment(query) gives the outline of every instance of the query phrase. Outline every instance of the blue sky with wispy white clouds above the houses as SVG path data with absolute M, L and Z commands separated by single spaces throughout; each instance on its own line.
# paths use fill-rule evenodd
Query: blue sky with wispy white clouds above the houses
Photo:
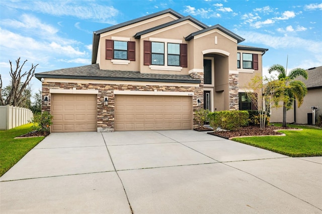
M 322 66 L 322 1 L 0 1 L 0 71 L 10 81 L 9 60 L 28 59 L 37 72 L 91 64 L 93 31 L 173 9 L 208 26 L 220 24 L 245 38 L 239 44 L 269 51 L 273 64 Z M 41 82 L 32 80 L 34 91 Z

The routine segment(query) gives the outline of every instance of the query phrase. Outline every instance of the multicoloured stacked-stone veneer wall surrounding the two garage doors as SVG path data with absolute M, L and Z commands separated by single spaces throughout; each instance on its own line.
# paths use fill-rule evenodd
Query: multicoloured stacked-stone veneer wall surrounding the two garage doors
M 193 74 L 194 78 L 203 76 L 200 74 Z M 203 80 L 199 87 L 187 86 L 155 86 L 155 85 L 125 85 L 125 84 L 99 84 L 99 83 L 63 83 L 59 82 L 43 82 L 42 83 L 42 96 L 48 96 L 48 105 L 42 105 L 42 111 L 50 112 L 51 94 L 49 89 L 73 89 L 76 90 L 98 90 L 97 94 L 97 131 L 98 132 L 113 132 L 114 131 L 114 111 L 115 111 L 115 95 L 114 90 L 134 90 L 134 91 L 180 91 L 180 92 L 194 92 L 193 96 L 193 112 L 201 108 L 197 105 L 197 99 L 203 99 Z M 103 104 L 104 96 L 107 96 L 109 103 L 107 106 Z M 194 113 L 193 113 L 194 115 Z M 194 121 L 193 128 L 198 127 Z

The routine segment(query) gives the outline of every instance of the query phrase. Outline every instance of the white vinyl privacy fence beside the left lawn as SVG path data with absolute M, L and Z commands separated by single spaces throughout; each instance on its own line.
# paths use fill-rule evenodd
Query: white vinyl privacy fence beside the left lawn
M 30 109 L 12 105 L 0 105 L 0 130 L 25 125 L 32 117 L 33 113 Z

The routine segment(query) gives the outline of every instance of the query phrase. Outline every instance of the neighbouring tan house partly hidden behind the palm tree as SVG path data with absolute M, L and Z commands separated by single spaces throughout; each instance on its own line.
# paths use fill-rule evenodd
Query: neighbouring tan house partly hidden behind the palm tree
M 294 106 L 286 113 L 287 123 L 296 124 L 308 124 L 312 122 L 311 115 L 312 107 L 316 109 L 316 116 L 322 114 L 322 66 L 309 68 L 306 70 L 308 77 L 298 77 L 296 80 L 301 80 L 305 83 L 307 88 L 307 94 L 304 97 L 303 104 L 300 108 L 297 108 L 297 101 L 294 102 Z M 283 108 L 271 109 L 271 122 L 282 123 L 283 122 Z

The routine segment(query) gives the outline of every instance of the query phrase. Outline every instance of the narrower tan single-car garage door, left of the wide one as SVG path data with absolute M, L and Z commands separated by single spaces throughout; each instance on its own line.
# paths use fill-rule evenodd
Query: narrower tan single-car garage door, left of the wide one
M 51 94 L 52 132 L 97 131 L 96 94 Z

